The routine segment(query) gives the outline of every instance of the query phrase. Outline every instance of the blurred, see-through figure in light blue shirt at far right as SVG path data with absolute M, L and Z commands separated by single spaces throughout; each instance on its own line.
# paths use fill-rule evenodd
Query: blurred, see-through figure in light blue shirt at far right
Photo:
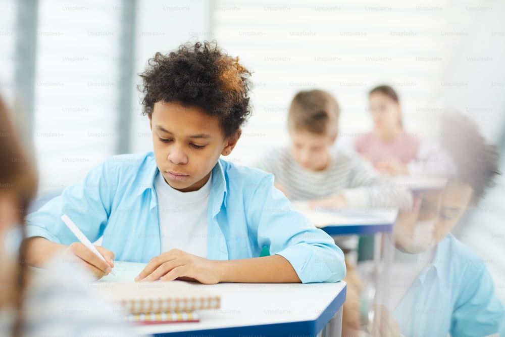
M 376 331 L 407 336 L 505 336 L 505 311 L 482 258 L 450 231 L 477 205 L 498 174 L 498 153 L 463 114 L 443 119 L 442 148 L 457 172 L 447 186 L 423 192 L 398 216 L 388 309 Z M 380 324 L 379 324 L 380 325 Z M 385 328 L 387 327 L 387 328 Z

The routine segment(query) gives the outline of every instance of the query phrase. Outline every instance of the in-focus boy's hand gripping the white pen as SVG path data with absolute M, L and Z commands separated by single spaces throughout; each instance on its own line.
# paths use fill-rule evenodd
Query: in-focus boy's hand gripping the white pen
M 86 268 L 91 271 L 91 273 L 97 278 L 102 278 L 108 275 L 112 268 L 114 268 L 114 253 L 104 247 L 95 246 L 100 254 L 105 258 L 106 261 L 102 261 L 93 252 L 87 249 L 80 242 L 74 242 L 65 250 L 64 255 L 68 253 L 75 255 L 78 259 L 76 262 L 83 262 Z

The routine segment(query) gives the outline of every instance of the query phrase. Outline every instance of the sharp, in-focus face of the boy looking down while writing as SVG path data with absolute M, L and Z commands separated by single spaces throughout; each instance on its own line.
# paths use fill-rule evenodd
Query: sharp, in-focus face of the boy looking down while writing
M 189 192 L 205 185 L 220 155 L 227 156 L 240 131 L 227 139 L 219 118 L 200 108 L 176 102 L 157 102 L 149 116 L 156 164 L 165 181 Z

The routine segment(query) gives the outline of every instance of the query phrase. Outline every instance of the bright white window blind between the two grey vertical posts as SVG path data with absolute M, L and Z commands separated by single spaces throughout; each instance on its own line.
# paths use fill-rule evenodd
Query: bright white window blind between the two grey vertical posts
M 39 3 L 34 142 L 41 192 L 82 179 L 114 154 L 119 5 Z

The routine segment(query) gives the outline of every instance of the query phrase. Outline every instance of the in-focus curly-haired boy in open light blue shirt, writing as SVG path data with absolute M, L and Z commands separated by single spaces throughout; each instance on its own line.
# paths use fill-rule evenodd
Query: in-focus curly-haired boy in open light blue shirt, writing
M 220 159 L 250 114 L 249 75 L 214 42 L 150 59 L 140 76 L 154 152 L 111 157 L 30 214 L 34 264 L 70 247 L 98 277 L 115 257 L 147 263 L 137 281 L 341 280 L 342 251 L 291 208 L 273 178 Z M 64 213 L 91 242 L 103 236 L 98 249 L 109 263 L 76 243 Z M 264 247 L 273 255 L 259 257 Z

